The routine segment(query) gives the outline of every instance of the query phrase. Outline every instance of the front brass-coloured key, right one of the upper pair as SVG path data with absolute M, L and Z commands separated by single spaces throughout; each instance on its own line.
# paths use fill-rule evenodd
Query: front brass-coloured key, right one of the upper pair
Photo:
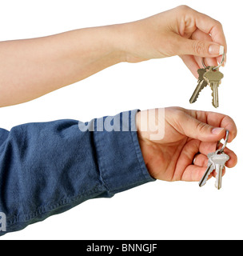
M 210 66 L 209 70 L 204 74 L 205 80 L 209 83 L 209 86 L 213 90 L 212 96 L 213 101 L 212 104 L 214 107 L 218 107 L 218 86 L 221 84 L 221 79 L 224 78 L 224 74 L 222 74 L 219 70 L 215 69 L 215 66 Z

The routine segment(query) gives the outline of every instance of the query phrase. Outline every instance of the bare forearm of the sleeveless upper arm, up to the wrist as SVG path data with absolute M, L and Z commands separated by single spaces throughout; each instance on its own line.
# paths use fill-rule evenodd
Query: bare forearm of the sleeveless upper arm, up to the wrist
M 0 106 L 38 98 L 121 62 L 115 26 L 0 42 Z

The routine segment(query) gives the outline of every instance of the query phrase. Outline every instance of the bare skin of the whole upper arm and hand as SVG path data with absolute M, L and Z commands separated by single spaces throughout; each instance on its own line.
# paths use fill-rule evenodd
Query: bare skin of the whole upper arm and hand
M 136 22 L 0 42 L 0 106 L 28 102 L 119 62 L 178 55 L 197 78 L 201 57 L 208 65 L 221 61 L 219 46 L 227 52 L 221 23 L 188 6 Z

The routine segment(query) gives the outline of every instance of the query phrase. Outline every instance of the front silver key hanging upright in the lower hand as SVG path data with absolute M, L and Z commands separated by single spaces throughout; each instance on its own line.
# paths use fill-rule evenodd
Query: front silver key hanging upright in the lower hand
M 215 186 L 216 186 L 217 190 L 221 189 L 221 186 L 222 186 L 222 172 L 223 172 L 223 169 L 225 167 L 225 162 L 227 162 L 228 160 L 229 160 L 229 155 L 225 154 L 224 152 L 222 152 L 221 154 L 213 154 L 213 156 L 211 158 L 211 161 L 214 163 L 215 170 L 216 170 L 216 173 L 217 173 L 216 182 L 215 182 Z

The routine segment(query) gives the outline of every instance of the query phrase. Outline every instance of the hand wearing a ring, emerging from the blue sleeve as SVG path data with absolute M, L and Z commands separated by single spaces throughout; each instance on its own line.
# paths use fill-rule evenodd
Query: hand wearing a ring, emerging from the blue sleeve
M 165 127 L 160 139 L 153 137 L 158 134 L 157 127 Z M 224 114 L 179 107 L 137 113 L 137 135 L 149 174 L 169 182 L 200 181 L 207 168 L 207 154 L 216 150 L 217 141 L 225 138 L 225 130 L 229 130 L 228 142 L 232 142 L 237 127 L 233 119 Z M 235 166 L 237 155 L 227 147 L 225 153 L 230 157 L 226 166 Z

